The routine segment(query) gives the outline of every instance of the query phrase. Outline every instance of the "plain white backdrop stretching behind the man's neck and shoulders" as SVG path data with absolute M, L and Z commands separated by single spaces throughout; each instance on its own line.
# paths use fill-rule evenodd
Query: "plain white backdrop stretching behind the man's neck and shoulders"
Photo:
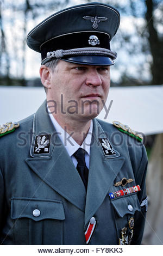
M 18 121 L 33 114 L 45 100 L 41 87 L 0 86 L 0 124 Z M 145 135 L 163 132 L 163 86 L 110 88 L 106 107 L 113 100 L 105 121 L 128 124 Z M 98 118 L 104 119 L 105 110 Z

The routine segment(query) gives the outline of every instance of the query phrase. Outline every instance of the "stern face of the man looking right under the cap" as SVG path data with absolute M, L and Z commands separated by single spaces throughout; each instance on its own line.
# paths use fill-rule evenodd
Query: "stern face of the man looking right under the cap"
M 90 120 L 101 112 L 110 88 L 110 66 L 59 60 L 54 72 L 50 72 L 51 88 L 47 100 L 57 103 L 58 117 Z

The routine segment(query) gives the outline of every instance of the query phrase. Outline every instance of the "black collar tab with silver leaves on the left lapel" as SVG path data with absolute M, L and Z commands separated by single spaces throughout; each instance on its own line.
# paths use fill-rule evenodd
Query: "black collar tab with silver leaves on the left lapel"
M 51 142 L 51 135 L 37 135 L 35 137 L 35 145 L 33 154 L 48 154 Z

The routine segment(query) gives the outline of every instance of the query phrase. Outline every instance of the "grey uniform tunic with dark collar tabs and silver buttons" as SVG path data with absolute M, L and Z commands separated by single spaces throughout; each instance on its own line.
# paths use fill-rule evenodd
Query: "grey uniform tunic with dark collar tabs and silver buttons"
M 48 150 L 35 151 L 35 137 L 49 136 Z M 48 137 L 48 138 L 49 138 Z M 47 138 L 47 137 L 46 137 Z M 115 154 L 104 154 L 107 138 Z M 93 119 L 87 193 L 46 112 L 46 102 L 20 127 L 1 138 L 0 242 L 3 245 L 116 245 L 122 229 L 131 244 L 141 243 L 145 225 L 145 147 L 115 126 Z M 122 178 L 134 181 L 114 186 Z M 111 199 L 109 193 L 140 185 L 141 191 Z M 131 207 L 130 207 L 130 206 Z M 135 224 L 130 239 L 129 220 Z M 123 240 L 125 240 L 125 237 Z M 127 243 L 127 242 L 124 242 Z

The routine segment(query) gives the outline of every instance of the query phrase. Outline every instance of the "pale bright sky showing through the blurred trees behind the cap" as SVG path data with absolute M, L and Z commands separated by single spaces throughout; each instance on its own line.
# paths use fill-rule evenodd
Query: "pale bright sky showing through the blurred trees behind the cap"
M 11 2 L 10 0 L 8 0 Z M 61 0 L 62 1 L 62 0 Z M 136 0 L 135 0 L 136 1 Z M 17 2 L 22 3 L 20 0 L 17 0 Z M 96 1 L 91 1 L 91 2 L 96 2 Z M 105 2 L 105 1 L 98 1 L 98 2 Z M 110 0 L 110 2 L 117 2 Z M 76 4 L 83 4 L 87 3 L 85 0 L 71 0 L 70 3 L 67 5 L 67 7 L 70 7 L 71 5 L 76 5 Z M 121 5 L 127 9 L 129 6 L 129 0 L 121 0 Z M 54 11 L 55 12 L 55 11 Z M 49 12 L 48 15 L 51 15 L 53 13 L 53 10 Z M 159 12 L 156 13 L 159 15 Z M 8 49 L 9 51 L 12 52 L 12 69 L 10 70 L 10 73 L 12 76 L 20 76 L 22 74 L 22 66 L 17 65 L 16 61 L 18 62 L 19 59 L 21 59 L 22 52 L 21 52 L 21 47 L 19 47 L 22 42 L 22 17 L 21 13 L 15 13 L 15 16 L 12 16 L 13 13 L 10 9 L 5 10 L 5 29 L 7 31 L 7 41 L 8 41 Z M 28 26 L 27 26 L 27 34 L 28 32 L 37 25 L 37 23 L 41 22 L 43 19 L 45 19 L 47 16 L 40 14 L 39 17 L 37 17 L 36 21 L 33 21 L 30 19 L 28 21 Z M 137 45 L 137 50 L 139 50 L 140 46 L 140 38 L 136 36 L 136 25 L 143 26 L 144 25 L 144 20 L 141 17 L 134 18 L 131 15 L 121 15 L 121 24 L 120 24 L 120 32 L 118 33 L 128 33 L 133 35 L 133 44 Z M 17 44 L 14 45 L 14 42 L 12 41 L 13 38 L 13 29 L 14 33 L 16 33 L 18 42 Z M 160 25 L 160 31 L 163 29 L 163 27 Z M 20 39 L 20 41 L 19 41 Z M 132 57 L 128 54 L 129 51 L 129 46 L 124 45 L 124 47 L 121 47 L 118 50 L 118 57 L 117 57 L 117 64 L 115 64 L 114 67 L 111 69 L 111 76 L 114 82 L 118 82 L 121 78 L 121 74 L 127 70 L 128 74 L 130 76 L 135 75 L 137 71 L 137 67 L 139 68 L 141 65 L 141 68 L 143 69 L 143 77 L 147 80 L 151 78 L 151 75 L 149 74 L 149 62 L 151 62 L 151 56 L 143 56 L 143 54 L 137 56 L 133 55 Z M 117 51 L 117 42 L 115 39 L 112 39 L 111 41 L 111 50 Z M 39 68 L 40 68 L 40 63 L 41 63 L 41 57 L 40 53 L 34 52 L 31 50 L 27 45 L 26 45 L 26 70 L 25 70 L 25 77 L 26 78 L 33 78 L 33 77 L 39 77 Z M 21 64 L 21 63 L 20 63 Z M 137 74 L 139 76 L 139 74 Z

